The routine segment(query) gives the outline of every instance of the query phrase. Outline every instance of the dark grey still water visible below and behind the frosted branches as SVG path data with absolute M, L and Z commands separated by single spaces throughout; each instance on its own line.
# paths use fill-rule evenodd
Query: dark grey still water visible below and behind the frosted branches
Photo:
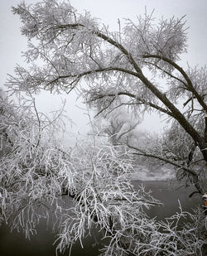
M 132 181 L 133 186 L 138 189 L 141 186 L 140 181 Z M 182 187 L 178 190 L 171 191 L 166 181 L 145 181 L 144 186 L 146 191 L 152 191 L 152 195 L 164 203 L 163 206 L 153 206 L 150 211 L 152 217 L 157 217 L 157 220 L 162 220 L 171 216 L 179 210 L 178 200 L 180 200 L 183 210 L 190 210 L 198 205 L 200 202 L 196 196 L 189 198 L 188 196 L 193 191 L 192 187 Z M 174 188 L 175 189 L 175 188 Z M 77 243 L 72 249 L 72 256 L 97 256 L 99 249 L 103 246 L 99 243 L 102 234 L 92 234 L 91 237 L 84 239 L 84 249 L 81 249 Z M 31 240 L 25 239 L 25 235 L 13 231 L 12 233 L 6 225 L 0 228 L 0 256 L 55 256 L 55 235 L 50 229 L 47 229 L 46 223 L 42 220 L 37 235 L 33 236 Z M 68 255 L 69 250 L 65 251 Z

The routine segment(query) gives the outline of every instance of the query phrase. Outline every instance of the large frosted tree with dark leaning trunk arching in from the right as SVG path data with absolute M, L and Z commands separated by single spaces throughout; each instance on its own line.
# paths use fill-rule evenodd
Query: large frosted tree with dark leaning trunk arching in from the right
M 70 2 L 42 1 L 32 6 L 22 2 L 13 12 L 22 19 L 22 34 L 28 39 L 24 56 L 31 67 L 17 66 L 16 76 L 8 82 L 12 89 L 69 93 L 85 80 L 88 87 L 82 94 L 99 111 L 128 105 L 134 114 L 166 114 L 172 127 L 163 145 L 165 154 L 161 147 L 148 155 L 170 161 L 204 192 L 200 177 L 206 176 L 207 161 L 206 68 L 184 69 L 178 64 L 187 51 L 184 17 L 155 22 L 145 14 L 134 22 L 125 20 L 113 32 L 89 12 L 76 12 Z M 166 86 L 159 85 L 160 77 Z M 183 108 L 178 108 L 181 103 Z M 177 147 L 178 158 L 171 145 Z M 138 145 L 134 150 L 139 150 Z

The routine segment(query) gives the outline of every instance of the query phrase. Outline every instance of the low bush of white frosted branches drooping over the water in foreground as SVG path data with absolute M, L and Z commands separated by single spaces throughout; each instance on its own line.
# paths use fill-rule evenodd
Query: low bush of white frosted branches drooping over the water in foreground
M 30 238 L 45 219 L 60 252 L 77 240 L 82 244 L 96 228 L 107 239 L 100 252 L 105 256 L 205 255 L 202 211 L 181 210 L 165 222 L 147 217 L 146 207 L 159 202 L 142 188 L 134 190 L 127 148 L 87 139 L 67 150 L 54 136 L 60 132 L 59 112 L 51 121 L 34 99 L 17 106 L 2 98 L 0 104 L 0 223 Z M 183 218 L 190 222 L 181 229 Z

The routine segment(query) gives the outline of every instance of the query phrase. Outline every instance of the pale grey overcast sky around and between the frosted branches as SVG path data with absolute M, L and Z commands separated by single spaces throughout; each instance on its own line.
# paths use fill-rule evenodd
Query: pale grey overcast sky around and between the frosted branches
M 26 50 L 26 39 L 21 36 L 21 22 L 17 16 L 11 12 L 11 6 L 17 6 L 18 0 L 0 0 L 0 87 L 7 80 L 7 73 L 12 74 L 14 66 L 22 64 L 21 52 Z M 38 2 L 38 0 L 27 0 L 26 2 Z M 189 50 L 185 59 L 182 60 L 183 65 L 187 62 L 189 65 L 205 65 L 207 64 L 207 0 L 71 0 L 70 3 L 78 10 L 83 12 L 87 10 L 95 17 L 101 18 L 100 22 L 104 22 L 114 30 L 118 28 L 118 18 L 122 22 L 122 18 L 129 17 L 136 19 L 137 15 L 145 12 L 152 12 L 155 9 L 156 17 L 183 17 L 186 15 L 186 26 L 190 27 Z M 124 22 L 124 21 L 123 21 Z M 65 95 L 52 96 L 50 94 L 42 94 L 38 98 L 39 108 L 54 110 L 59 98 L 65 99 Z M 55 103 L 55 104 L 54 104 Z M 85 130 L 87 117 L 83 111 L 75 107 L 80 101 L 75 102 L 75 95 L 67 97 L 67 110 L 70 117 L 80 127 L 80 132 Z M 142 124 L 148 125 L 153 123 L 153 129 L 157 130 L 161 127 L 156 117 L 147 118 Z

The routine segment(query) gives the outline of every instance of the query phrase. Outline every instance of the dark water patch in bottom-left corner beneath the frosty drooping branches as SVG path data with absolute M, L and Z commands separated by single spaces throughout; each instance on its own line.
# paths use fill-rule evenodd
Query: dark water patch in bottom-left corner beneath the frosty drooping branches
M 79 243 L 73 246 L 72 256 L 97 256 L 101 244 L 99 243 L 102 237 L 101 233 L 91 234 L 84 239 L 84 249 Z M 31 240 L 25 238 L 25 234 L 18 233 L 8 229 L 6 225 L 2 225 L 0 229 L 0 255 L 1 256 L 68 256 L 70 250 L 66 250 L 64 254 L 55 253 L 55 235 L 51 229 L 46 227 L 46 222 L 43 220 L 37 229 L 37 235 L 31 237 Z

